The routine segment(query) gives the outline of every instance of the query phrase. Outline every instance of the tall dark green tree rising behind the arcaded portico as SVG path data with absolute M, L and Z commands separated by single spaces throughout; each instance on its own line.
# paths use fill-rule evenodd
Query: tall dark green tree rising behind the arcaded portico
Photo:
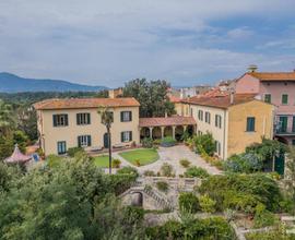
M 140 117 L 164 117 L 175 113 L 174 104 L 169 101 L 167 92 L 170 85 L 166 81 L 137 79 L 123 87 L 125 97 L 134 97 L 140 103 Z

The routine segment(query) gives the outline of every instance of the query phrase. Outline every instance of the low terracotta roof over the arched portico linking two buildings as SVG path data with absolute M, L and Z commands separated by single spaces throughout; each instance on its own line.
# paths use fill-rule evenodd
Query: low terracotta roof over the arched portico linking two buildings
M 162 127 L 162 125 L 194 125 L 192 117 L 173 116 L 167 118 L 140 118 L 140 127 Z

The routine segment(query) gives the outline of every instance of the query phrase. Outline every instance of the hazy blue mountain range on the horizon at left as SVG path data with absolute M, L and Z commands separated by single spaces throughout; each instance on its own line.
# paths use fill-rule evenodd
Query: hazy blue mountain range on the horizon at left
M 108 89 L 106 86 L 91 86 L 71 83 L 63 80 L 26 79 L 12 73 L 0 73 L 0 92 L 97 92 Z

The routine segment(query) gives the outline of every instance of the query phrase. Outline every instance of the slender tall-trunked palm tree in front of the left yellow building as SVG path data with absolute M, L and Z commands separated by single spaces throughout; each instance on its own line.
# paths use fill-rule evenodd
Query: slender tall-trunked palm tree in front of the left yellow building
M 109 173 L 111 173 L 111 137 L 110 137 L 110 127 L 114 121 L 113 111 L 109 111 L 107 107 L 99 107 L 97 113 L 102 118 L 102 123 L 106 127 L 108 136 L 108 166 Z

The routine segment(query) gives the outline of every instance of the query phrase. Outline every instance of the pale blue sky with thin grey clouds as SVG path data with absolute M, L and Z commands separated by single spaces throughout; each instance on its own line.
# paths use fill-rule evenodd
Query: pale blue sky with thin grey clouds
M 116 87 L 295 69 L 295 0 L 0 0 L 0 72 Z

